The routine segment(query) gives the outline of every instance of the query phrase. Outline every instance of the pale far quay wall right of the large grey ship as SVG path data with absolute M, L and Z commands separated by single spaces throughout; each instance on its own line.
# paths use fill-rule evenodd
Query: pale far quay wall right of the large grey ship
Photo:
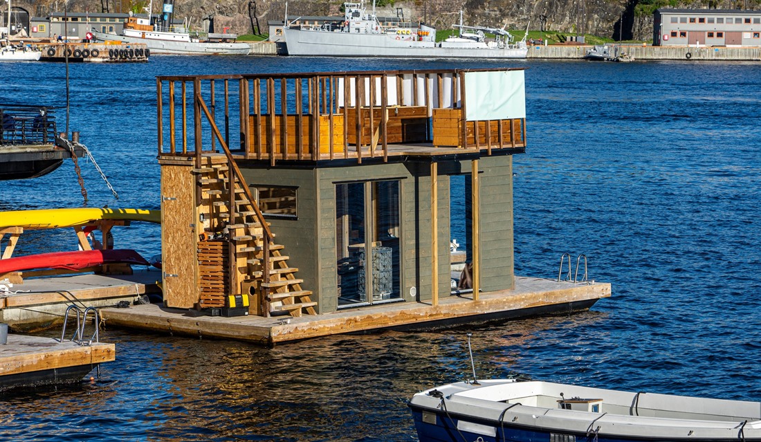
M 583 59 L 592 46 L 529 46 L 529 59 Z M 761 47 L 621 46 L 635 60 L 759 61 Z M 689 54 L 689 56 L 688 56 Z

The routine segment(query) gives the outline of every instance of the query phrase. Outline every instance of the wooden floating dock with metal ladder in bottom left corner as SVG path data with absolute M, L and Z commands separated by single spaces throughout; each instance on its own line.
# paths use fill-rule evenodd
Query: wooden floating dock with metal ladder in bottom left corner
M 14 388 L 78 383 L 97 364 L 116 358 L 113 344 L 78 345 L 53 338 L 8 335 L 0 345 L 0 392 Z

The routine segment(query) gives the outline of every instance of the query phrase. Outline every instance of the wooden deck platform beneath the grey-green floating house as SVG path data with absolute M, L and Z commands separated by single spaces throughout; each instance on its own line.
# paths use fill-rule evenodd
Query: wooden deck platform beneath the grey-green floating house
M 610 297 L 610 291 L 608 283 L 587 285 L 517 277 L 514 290 L 482 293 L 475 301 L 470 295 L 444 297 L 435 307 L 408 301 L 317 316 L 227 318 L 191 316 L 188 310 L 150 304 L 129 309 L 108 308 L 100 310 L 100 314 L 109 326 L 276 345 L 340 333 L 431 329 L 458 323 L 587 310 L 600 298 Z

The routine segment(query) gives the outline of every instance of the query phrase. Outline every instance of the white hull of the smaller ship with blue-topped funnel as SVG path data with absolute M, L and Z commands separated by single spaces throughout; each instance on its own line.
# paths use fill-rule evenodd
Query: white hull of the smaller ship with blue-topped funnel
M 96 41 L 120 41 L 122 43 L 145 43 L 151 55 L 228 55 L 247 56 L 251 47 L 247 43 L 216 43 L 154 40 L 149 38 L 125 37 L 113 33 L 92 31 Z

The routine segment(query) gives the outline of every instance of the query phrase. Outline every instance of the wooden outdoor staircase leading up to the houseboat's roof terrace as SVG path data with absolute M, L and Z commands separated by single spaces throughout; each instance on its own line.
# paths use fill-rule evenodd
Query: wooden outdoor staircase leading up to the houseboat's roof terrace
M 261 316 L 317 314 L 312 292 L 301 288 L 298 269 L 288 266 L 284 246 L 273 241 L 229 151 L 204 153 L 196 166 L 203 232 L 198 241 L 199 307 L 222 307 L 224 296 L 247 293 Z

